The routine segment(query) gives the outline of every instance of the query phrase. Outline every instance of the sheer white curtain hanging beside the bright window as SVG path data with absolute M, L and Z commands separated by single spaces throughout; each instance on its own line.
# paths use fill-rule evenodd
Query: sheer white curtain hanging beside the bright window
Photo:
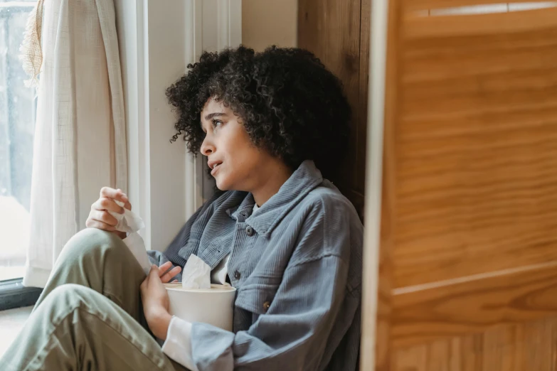
M 113 0 L 48 0 L 25 286 L 44 287 L 85 227 L 103 185 L 127 188 L 122 75 Z

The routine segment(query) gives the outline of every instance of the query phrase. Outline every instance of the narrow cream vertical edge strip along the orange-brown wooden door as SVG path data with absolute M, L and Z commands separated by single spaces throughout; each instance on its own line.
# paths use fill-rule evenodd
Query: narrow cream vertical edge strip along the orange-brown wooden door
M 364 283 L 361 367 L 375 368 L 381 191 L 383 176 L 383 122 L 387 56 L 388 0 L 372 1 L 369 58 L 368 134 L 366 161 L 366 228 L 364 231 Z M 364 370 L 364 368 L 361 368 Z M 368 368 L 371 370 L 371 368 Z

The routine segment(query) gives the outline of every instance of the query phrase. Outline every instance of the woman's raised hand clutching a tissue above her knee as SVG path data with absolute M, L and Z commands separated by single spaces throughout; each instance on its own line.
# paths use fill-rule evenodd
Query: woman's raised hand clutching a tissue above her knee
M 87 228 L 97 228 L 99 230 L 106 230 L 108 232 L 114 232 L 118 237 L 126 238 L 126 232 L 118 232 L 115 230 L 115 226 L 118 221 L 115 217 L 110 215 L 108 211 L 114 211 L 115 213 L 123 214 L 124 208 L 115 203 L 115 200 L 124 203 L 124 208 L 127 210 L 132 210 L 132 204 L 129 203 L 127 195 L 120 189 L 114 189 L 110 187 L 102 187 L 100 190 L 100 197 L 91 205 L 91 211 L 85 225 Z

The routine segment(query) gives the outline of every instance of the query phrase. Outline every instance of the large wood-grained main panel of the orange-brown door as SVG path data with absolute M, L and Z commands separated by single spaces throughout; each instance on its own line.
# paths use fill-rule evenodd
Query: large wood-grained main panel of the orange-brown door
M 557 259 L 551 11 L 551 28 L 400 36 L 396 288 Z

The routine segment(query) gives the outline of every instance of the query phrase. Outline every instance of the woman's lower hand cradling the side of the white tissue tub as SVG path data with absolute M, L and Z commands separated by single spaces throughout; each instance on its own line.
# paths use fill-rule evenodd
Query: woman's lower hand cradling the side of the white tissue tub
M 163 280 L 169 281 L 172 276 L 175 276 L 181 270 L 180 267 L 175 267 L 166 272 L 170 267 L 170 262 L 162 264 L 161 269 L 152 265 L 149 275 L 139 286 L 147 325 L 152 333 L 161 340 L 166 340 L 166 333 L 168 333 L 172 318 L 169 313 L 169 295 L 166 293 Z

